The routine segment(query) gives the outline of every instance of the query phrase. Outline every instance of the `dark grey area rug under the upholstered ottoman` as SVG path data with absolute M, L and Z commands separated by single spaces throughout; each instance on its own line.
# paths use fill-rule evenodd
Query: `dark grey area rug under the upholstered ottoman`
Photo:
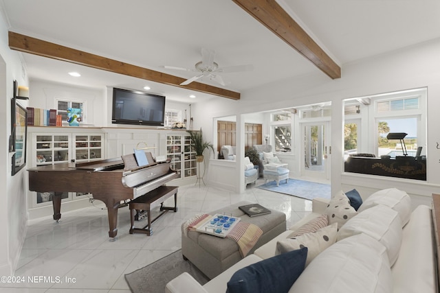
M 162 257 L 144 268 L 135 270 L 125 275 L 133 293 L 164 293 L 166 283 L 179 276 L 182 272 L 188 272 L 201 285 L 209 281 L 203 272 L 196 268 L 190 261 L 184 260 L 181 250 L 177 250 L 166 257 Z

